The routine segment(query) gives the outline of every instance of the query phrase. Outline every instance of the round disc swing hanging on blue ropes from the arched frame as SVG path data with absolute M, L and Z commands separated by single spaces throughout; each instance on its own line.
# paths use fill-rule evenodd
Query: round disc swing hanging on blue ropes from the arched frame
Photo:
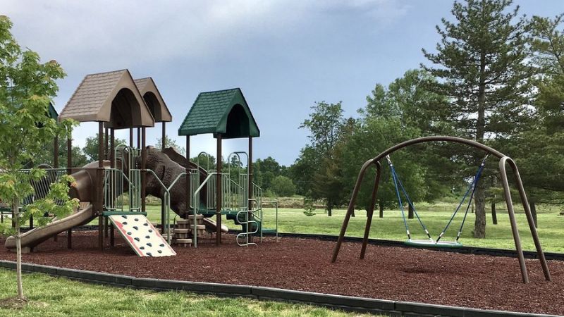
M 458 206 L 456 207 L 456 209 L 453 213 L 453 216 L 450 216 L 450 220 L 448 220 L 448 223 L 446 224 L 445 228 L 443 229 L 443 231 L 441 232 L 439 237 L 437 237 L 436 240 L 434 240 L 433 237 L 431 237 L 431 234 L 429 234 L 429 230 L 427 230 L 427 227 L 424 225 L 421 218 L 419 218 L 419 214 L 417 213 L 417 210 L 415 209 L 415 206 L 413 205 L 409 194 L 407 194 L 405 187 L 403 187 L 403 183 L 401 182 L 400 178 L 398 177 L 398 174 L 396 173 L 396 168 L 394 168 L 393 163 L 390 159 L 390 156 L 389 155 L 386 156 L 386 159 L 388 160 L 388 165 L 390 166 L 390 170 L 391 170 L 393 185 L 396 188 L 396 195 L 398 197 L 398 204 L 400 205 L 400 211 L 401 211 L 401 216 L 403 218 L 403 224 L 405 225 L 405 232 L 407 232 L 407 241 L 405 241 L 405 244 L 413 246 L 413 247 L 437 247 L 437 248 L 459 248 L 459 247 L 462 247 L 462 244 L 460 242 L 458 242 L 458 240 L 460 239 L 460 235 L 462 234 L 462 228 L 464 227 L 464 223 L 465 223 L 466 217 L 468 215 L 468 210 L 470 210 L 470 205 L 472 204 L 472 197 L 474 197 L 474 192 L 476 191 L 476 186 L 478 184 L 479 178 L 482 175 L 482 171 L 484 170 L 484 166 L 486 165 L 486 159 L 487 158 L 488 158 L 488 156 L 486 155 L 486 157 L 484 157 L 484 159 L 482 160 L 482 163 L 480 164 L 478 171 L 477 171 L 476 175 L 474 176 L 474 179 L 472 180 L 472 182 L 470 183 L 470 186 L 468 187 L 464 196 L 462 197 L 460 204 L 458 204 Z M 415 217 L 417 217 L 419 224 L 422 226 L 424 232 L 427 234 L 427 237 L 429 237 L 429 240 L 412 240 L 411 239 L 410 228 L 407 225 L 407 220 L 405 219 L 405 211 L 403 209 L 403 201 L 401 199 L 400 189 L 403 192 L 403 195 L 405 196 L 405 200 L 407 201 L 407 204 L 412 208 L 413 213 L 415 214 Z M 441 238 L 445 234 L 446 230 L 450 226 L 450 223 L 453 222 L 454 217 L 456 216 L 456 214 L 460 210 L 460 207 L 462 206 L 462 204 L 464 204 L 466 198 L 468 197 L 468 194 L 470 194 L 470 199 L 468 199 L 466 211 L 464 213 L 464 218 L 462 218 L 462 223 L 460 224 L 460 229 L 458 230 L 458 234 L 456 235 L 456 240 L 455 241 L 441 240 Z

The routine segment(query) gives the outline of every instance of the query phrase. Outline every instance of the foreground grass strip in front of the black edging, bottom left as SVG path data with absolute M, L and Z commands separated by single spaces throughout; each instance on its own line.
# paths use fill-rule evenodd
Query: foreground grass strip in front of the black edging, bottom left
M 0 299 L 15 296 L 15 281 L 16 273 L 0 269 Z M 24 274 L 23 282 L 30 302 L 21 309 L 0 307 L 0 316 L 369 316 L 301 304 L 90 285 L 39 273 Z

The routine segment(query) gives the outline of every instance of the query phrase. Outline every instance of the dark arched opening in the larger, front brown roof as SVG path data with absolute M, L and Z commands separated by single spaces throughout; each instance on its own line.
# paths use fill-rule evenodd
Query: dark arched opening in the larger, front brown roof
M 141 126 L 141 105 L 130 89 L 123 88 L 111 101 L 110 120 L 106 128 L 122 129 Z

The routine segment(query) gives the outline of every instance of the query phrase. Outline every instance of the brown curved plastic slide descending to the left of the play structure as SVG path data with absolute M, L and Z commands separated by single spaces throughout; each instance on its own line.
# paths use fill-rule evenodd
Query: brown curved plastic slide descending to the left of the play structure
M 109 162 L 107 163 L 109 165 Z M 90 163 L 72 174 L 75 178 L 75 186 L 71 187 L 69 196 L 80 201 L 78 209 L 70 216 L 55 219 L 47 225 L 25 232 L 22 235 L 22 251 L 30 251 L 32 247 L 48 240 L 50 237 L 73 227 L 90 223 L 95 218 L 91 201 L 93 201 L 92 184 L 96 183 L 94 180 L 96 178 L 97 166 L 98 162 Z M 16 249 L 16 237 L 8 237 L 4 246 L 7 249 Z

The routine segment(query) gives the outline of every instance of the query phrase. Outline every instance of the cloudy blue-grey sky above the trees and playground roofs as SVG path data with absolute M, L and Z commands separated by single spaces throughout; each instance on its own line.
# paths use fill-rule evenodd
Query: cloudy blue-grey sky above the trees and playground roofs
M 21 46 L 42 61 L 55 59 L 61 111 L 87 74 L 127 68 L 152 77 L 178 127 L 200 92 L 240 87 L 259 125 L 254 159 L 272 156 L 289 166 L 307 143 L 300 124 L 316 101 L 343 101 L 357 116 L 376 83 L 387 85 L 427 63 L 435 26 L 450 19 L 453 1 L 407 0 L 2 0 Z M 520 0 L 520 13 L 553 17 L 561 0 Z M 147 129 L 156 144 L 161 124 Z M 75 144 L 97 131 L 82 123 Z M 116 137 L 127 139 L 125 130 Z M 190 153 L 215 155 L 211 135 L 191 138 Z M 223 154 L 247 151 L 247 140 L 224 140 Z

